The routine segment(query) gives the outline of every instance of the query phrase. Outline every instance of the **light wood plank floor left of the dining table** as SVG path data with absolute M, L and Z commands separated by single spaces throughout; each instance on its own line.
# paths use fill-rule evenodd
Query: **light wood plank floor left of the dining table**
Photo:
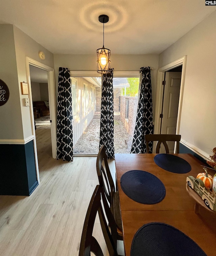
M 30 196 L 0 195 L 0 255 L 77 256 L 87 207 L 99 184 L 96 157 L 53 159 L 48 129 L 36 130 L 36 140 L 38 187 Z M 114 170 L 114 161 L 109 164 Z M 94 234 L 106 255 L 99 219 Z

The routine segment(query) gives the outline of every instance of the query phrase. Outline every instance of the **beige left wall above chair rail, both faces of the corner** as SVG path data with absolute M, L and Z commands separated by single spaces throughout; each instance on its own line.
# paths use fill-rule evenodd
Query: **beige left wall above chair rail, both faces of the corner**
M 33 135 L 30 107 L 24 106 L 21 82 L 27 82 L 26 57 L 54 67 L 53 54 L 39 45 L 19 28 L 0 24 L 0 77 L 9 88 L 9 99 L 0 107 L 0 139 L 4 143 L 23 140 Z M 46 59 L 39 59 L 38 52 L 44 51 Z

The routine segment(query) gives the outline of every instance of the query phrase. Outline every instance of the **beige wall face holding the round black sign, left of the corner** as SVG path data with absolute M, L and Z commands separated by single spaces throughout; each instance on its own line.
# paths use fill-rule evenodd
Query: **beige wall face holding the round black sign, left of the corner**
M 0 107 L 0 139 L 23 139 L 13 25 L 0 24 L 0 35 L 0 79 L 9 89 L 9 99 Z

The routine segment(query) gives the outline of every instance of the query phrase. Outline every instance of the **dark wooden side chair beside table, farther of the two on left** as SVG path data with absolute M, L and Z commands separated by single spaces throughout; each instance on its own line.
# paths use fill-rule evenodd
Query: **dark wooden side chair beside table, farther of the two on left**
M 99 184 L 104 189 L 104 195 L 106 196 L 106 200 L 110 205 L 110 210 L 113 214 L 116 226 L 118 228 L 117 239 L 123 240 L 119 194 L 118 194 L 118 191 L 115 190 L 115 185 L 110 173 L 104 145 L 99 150 L 99 153 L 97 156 L 97 162 L 96 162 L 96 169 L 97 169 Z M 103 200 L 105 200 L 105 198 L 103 198 Z

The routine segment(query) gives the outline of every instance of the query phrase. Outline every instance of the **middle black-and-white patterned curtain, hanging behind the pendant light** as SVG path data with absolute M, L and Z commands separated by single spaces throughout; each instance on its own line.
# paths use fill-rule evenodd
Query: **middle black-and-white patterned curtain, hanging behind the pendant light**
M 114 111 L 113 111 L 113 69 L 103 74 L 101 96 L 100 144 L 105 145 L 108 158 L 114 158 Z

